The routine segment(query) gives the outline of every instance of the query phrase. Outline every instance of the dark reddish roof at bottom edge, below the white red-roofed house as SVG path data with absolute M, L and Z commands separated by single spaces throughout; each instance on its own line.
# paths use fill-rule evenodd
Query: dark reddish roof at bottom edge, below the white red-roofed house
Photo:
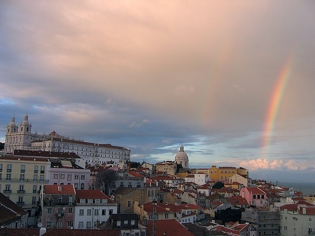
M 51 229 L 42 236 L 120 236 L 120 230 Z

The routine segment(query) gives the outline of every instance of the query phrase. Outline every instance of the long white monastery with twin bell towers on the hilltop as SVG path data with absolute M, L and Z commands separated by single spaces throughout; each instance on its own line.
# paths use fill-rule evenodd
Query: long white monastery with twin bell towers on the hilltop
M 69 136 L 61 136 L 55 131 L 48 135 L 32 133 L 32 124 L 29 123 L 27 114 L 20 125 L 15 123 L 13 115 L 11 123 L 6 127 L 4 150 L 11 153 L 14 149 L 74 152 L 86 164 L 92 166 L 108 161 L 116 163 L 130 159 L 130 150 L 127 148 L 84 142 L 83 139 L 69 139 Z

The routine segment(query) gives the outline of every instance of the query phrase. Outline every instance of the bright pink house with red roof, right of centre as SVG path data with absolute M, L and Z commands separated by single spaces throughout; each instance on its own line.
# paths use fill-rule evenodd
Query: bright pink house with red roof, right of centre
M 265 207 L 267 204 L 267 193 L 260 188 L 244 187 L 241 189 L 240 195 L 246 199 L 249 205 Z

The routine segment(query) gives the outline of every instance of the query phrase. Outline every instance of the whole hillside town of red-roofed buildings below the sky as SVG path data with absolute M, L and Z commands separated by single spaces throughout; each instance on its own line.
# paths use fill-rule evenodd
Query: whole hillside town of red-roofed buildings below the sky
M 315 196 L 243 167 L 134 162 L 130 148 L 6 127 L 0 235 L 311 236 Z M 314 218 L 314 221 L 313 221 Z M 23 233 L 22 233 L 23 232 Z

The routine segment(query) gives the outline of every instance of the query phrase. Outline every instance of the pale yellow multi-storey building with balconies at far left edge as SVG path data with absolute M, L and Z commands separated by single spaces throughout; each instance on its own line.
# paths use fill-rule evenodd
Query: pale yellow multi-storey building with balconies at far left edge
M 46 158 L 0 157 L 0 191 L 30 212 L 29 225 L 38 207 L 40 189 L 48 184 L 50 161 Z

